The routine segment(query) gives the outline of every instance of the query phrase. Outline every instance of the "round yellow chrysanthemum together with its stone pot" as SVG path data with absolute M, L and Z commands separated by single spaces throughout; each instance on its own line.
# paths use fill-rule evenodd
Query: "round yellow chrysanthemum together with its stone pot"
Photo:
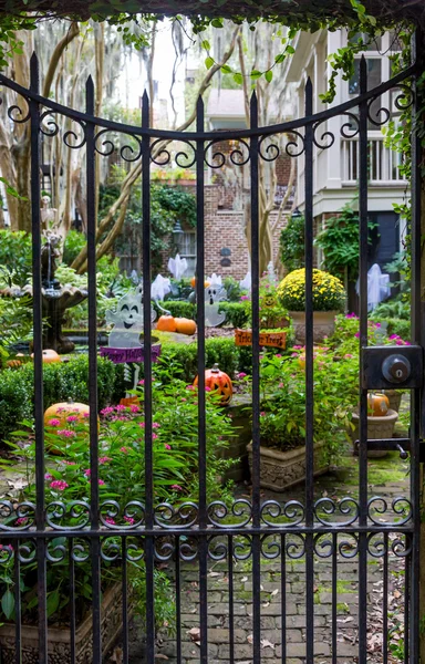
M 296 328 L 297 342 L 305 341 L 305 270 L 293 270 L 278 287 L 280 302 Z M 323 341 L 334 331 L 334 319 L 345 298 L 341 281 L 322 270 L 313 270 L 313 339 Z

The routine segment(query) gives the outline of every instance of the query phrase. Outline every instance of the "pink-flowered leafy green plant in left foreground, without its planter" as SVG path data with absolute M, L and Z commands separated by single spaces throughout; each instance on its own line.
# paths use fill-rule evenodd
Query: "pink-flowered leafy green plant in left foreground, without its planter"
M 174 381 L 166 387 L 153 383 L 153 485 L 156 520 L 167 520 L 169 504 L 178 506 L 188 499 L 197 499 L 198 491 L 198 406 L 197 391 L 191 385 L 188 390 L 183 382 Z M 143 382 L 138 394 L 142 397 Z M 79 414 L 63 414 L 51 418 L 45 426 L 46 473 L 45 473 L 45 505 L 46 520 L 51 527 L 83 529 L 87 526 L 91 515 L 90 495 L 92 468 L 90 465 L 90 432 L 87 417 Z M 80 414 L 81 416 L 81 414 Z M 23 423 L 30 426 L 31 423 Z M 211 500 L 227 498 L 226 487 L 219 478 L 231 464 L 220 458 L 220 450 L 228 445 L 232 433 L 230 421 L 225 411 L 218 405 L 214 394 L 206 394 L 206 444 L 207 444 L 207 496 Z M 24 432 L 17 433 L 22 440 Z M 28 434 L 27 434 L 28 435 Z M 19 510 L 13 509 L 7 517 L 7 525 L 22 530 L 22 539 L 28 537 L 25 531 L 34 525 L 37 491 L 34 484 L 35 445 L 32 436 L 22 449 L 22 443 L 11 443 L 13 449 L 24 455 L 27 460 L 27 486 L 22 490 Z M 54 454 L 53 454 L 54 453 Z M 58 456 L 60 453 L 60 456 Z M 114 529 L 128 530 L 132 547 L 135 547 L 129 567 L 129 583 L 143 596 L 144 561 L 141 539 L 136 536 L 137 528 L 145 519 L 145 415 L 143 402 L 139 405 L 117 405 L 103 408 L 99 429 L 99 520 L 104 530 L 102 540 L 102 583 L 108 588 L 121 579 L 120 562 L 114 551 L 121 547 L 120 538 L 114 537 Z M 166 507 L 166 505 L 168 507 Z M 59 507 L 60 506 L 60 507 Z M 187 509 L 195 509 L 194 506 Z M 4 522 L 4 519 L 3 519 Z M 133 536 L 132 536 L 133 531 Z M 143 531 L 141 530 L 141 533 Z M 79 539 L 80 542 L 80 539 Z M 65 554 L 66 548 L 60 538 L 51 541 L 51 560 L 48 574 L 48 614 L 54 621 L 68 621 L 70 615 L 69 585 L 70 561 Z M 90 557 L 85 558 L 87 542 L 79 544 L 84 554 L 79 554 L 74 575 L 76 596 L 84 598 L 76 606 L 77 619 L 82 620 L 90 608 Z M 49 544 L 50 546 L 50 544 Z M 87 544 L 89 546 L 89 544 Z M 55 547 L 63 548 L 59 556 Z M 139 558 L 136 549 L 141 549 Z M 2 552 L 0 551 L 0 557 Z M 11 558 L 10 578 L 6 574 L 0 581 L 0 595 L 3 616 L 8 620 L 14 616 L 13 558 Z M 158 602 L 164 600 L 167 590 L 166 579 L 157 571 L 155 575 Z M 22 615 L 27 623 L 37 622 L 37 563 L 22 568 Z M 86 600 L 86 601 L 85 601 Z M 144 602 L 137 601 L 141 612 Z M 172 606 L 172 598 L 162 603 L 164 611 Z M 169 613 L 169 611 L 168 611 Z M 156 615 L 158 626 L 164 622 L 169 624 L 169 616 Z M 160 623 L 162 621 L 162 623 Z

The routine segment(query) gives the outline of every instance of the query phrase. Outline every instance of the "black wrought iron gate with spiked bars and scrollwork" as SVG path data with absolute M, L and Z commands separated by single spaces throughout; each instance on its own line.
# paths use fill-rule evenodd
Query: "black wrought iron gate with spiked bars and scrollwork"
M 148 126 L 149 102 L 146 94 L 143 96 L 142 126 L 129 126 L 112 121 L 94 117 L 94 89 L 89 79 L 86 84 L 86 108 L 79 112 L 66 108 L 55 102 L 43 98 L 39 94 L 38 60 L 31 60 L 31 86 L 22 89 L 17 83 L 0 76 L 2 85 L 17 93 L 21 101 L 9 108 L 11 122 L 30 123 L 31 126 L 31 190 L 32 190 L 32 241 L 33 241 L 33 325 L 34 325 L 34 396 L 35 396 L 35 440 L 37 440 L 37 504 L 17 505 L 11 501 L 1 501 L 0 540 L 2 542 L 2 558 L 0 562 L 10 564 L 13 561 L 14 572 L 14 654 L 11 650 L 3 649 L 4 661 L 17 663 L 30 661 L 27 645 L 27 627 L 21 620 L 21 592 L 19 583 L 22 569 L 29 564 L 37 564 L 38 574 L 38 661 L 40 663 L 59 661 L 58 653 L 50 650 L 49 639 L 52 625 L 48 621 L 46 608 L 46 579 L 49 568 L 59 560 L 69 564 L 70 579 L 70 662 L 104 661 L 102 654 L 105 633 L 102 624 L 102 569 L 105 561 L 114 561 L 122 570 L 122 623 L 123 623 L 123 662 L 131 661 L 128 654 L 128 615 L 131 611 L 131 596 L 128 594 L 128 566 L 135 550 L 143 551 L 146 574 L 146 644 L 145 660 L 149 664 L 155 662 L 155 588 L 154 570 L 157 560 L 173 561 L 175 570 L 175 599 L 176 599 L 176 662 L 180 664 L 185 658 L 200 660 L 206 664 L 216 657 L 209 654 L 209 600 L 208 587 L 211 582 L 209 574 L 210 561 L 224 561 L 227 564 L 228 605 L 224 613 L 228 615 L 228 657 L 234 663 L 240 660 L 235 654 L 236 647 L 236 610 L 235 610 L 235 567 L 241 560 L 249 561 L 249 575 L 251 579 L 251 596 L 247 599 L 250 609 L 248 612 L 251 621 L 252 637 L 247 647 L 249 653 L 245 660 L 258 664 L 265 656 L 261 642 L 265 630 L 262 618 L 267 614 L 263 609 L 261 595 L 262 561 L 274 560 L 280 570 L 280 626 L 281 653 L 279 658 L 282 664 L 292 662 L 289 634 L 289 612 L 291 603 L 287 581 L 290 568 L 294 561 L 301 564 L 302 594 L 304 595 L 304 626 L 303 645 L 297 662 L 329 661 L 333 664 L 354 661 L 340 654 L 338 640 L 339 605 L 338 579 L 339 570 L 343 569 L 346 560 L 355 564 L 356 591 L 359 595 L 359 645 L 357 661 L 365 664 L 367 654 L 367 563 L 371 558 L 380 558 L 383 584 L 383 625 L 382 625 L 382 654 L 383 663 L 391 661 L 387 647 L 388 637 L 388 566 L 393 559 L 404 561 L 405 573 L 405 647 L 403 661 L 405 664 L 418 662 L 418 582 L 417 570 L 419 564 L 418 532 L 419 532 L 419 400 L 422 387 L 422 346 L 419 324 L 419 195 L 418 195 L 418 151 L 419 144 L 416 135 L 412 137 L 413 146 L 413 181 L 412 181 L 412 342 L 408 347 L 374 347 L 367 349 L 367 123 L 375 126 L 382 124 L 387 117 L 388 110 L 380 110 L 379 116 L 372 116 L 371 104 L 383 93 L 398 90 L 400 96 L 396 104 L 414 104 L 415 68 L 396 75 L 392 81 L 382 84 L 379 89 L 367 91 L 365 62 L 361 65 L 360 90 L 357 98 L 353 98 L 338 107 L 312 114 L 313 91 L 311 83 L 305 87 L 305 117 L 284 124 L 258 127 L 257 100 L 251 97 L 249 129 L 220 132 L 206 132 L 204 127 L 204 105 L 199 100 L 197 104 L 196 129 L 194 132 L 159 131 Z M 27 108 L 28 107 L 28 112 Z M 40 227 L 40 137 L 44 139 L 56 136 L 59 127 L 55 115 L 65 115 L 79 127 L 77 131 L 68 131 L 62 139 L 66 146 L 74 149 L 85 149 L 86 158 L 86 191 L 87 191 L 87 260 L 89 260 L 89 356 L 90 356 L 90 427 L 91 427 L 91 491 L 90 504 L 65 505 L 56 501 L 45 505 L 45 467 L 43 442 L 43 365 L 42 365 L 42 305 L 41 305 L 41 227 Z M 312 309 L 312 269 L 313 269 L 313 172 L 314 159 L 318 151 L 325 151 L 332 145 L 335 136 L 326 129 L 326 122 L 331 117 L 341 117 L 341 135 L 346 138 L 356 138 L 359 142 L 359 206 L 360 206 L 360 346 L 361 346 L 361 375 L 360 375 L 360 442 L 359 442 L 359 498 L 352 496 L 330 497 L 314 496 L 314 458 L 313 458 L 313 309 Z M 79 134 L 80 132 L 80 134 Z M 144 413 L 145 413 L 145 495 L 133 505 L 117 505 L 111 501 L 100 501 L 99 489 L 99 434 L 97 434 L 97 331 L 96 331 L 96 220 L 95 220 L 95 154 L 108 155 L 114 149 L 113 142 L 104 141 L 107 132 L 129 135 L 137 145 L 121 149 L 122 157 L 132 163 L 142 163 L 143 188 L 143 286 L 144 292 L 151 292 L 151 205 L 149 205 L 149 166 L 167 163 L 172 158 L 170 142 L 183 144 L 176 151 L 175 159 L 185 166 L 196 165 L 196 198 L 197 198 L 197 324 L 198 324 L 198 475 L 199 499 L 195 504 L 156 505 L 155 477 L 153 476 L 153 402 L 152 402 L 152 323 L 151 302 L 144 299 Z M 278 142 L 273 136 L 286 134 L 289 136 L 284 144 L 284 152 L 291 157 L 304 160 L 305 187 L 305 274 L 307 274 L 307 349 L 305 349 L 305 497 L 304 501 L 278 500 L 262 501 L 260 492 L 260 347 L 259 347 L 259 160 L 276 159 L 280 153 Z M 205 311 L 204 311 L 204 274 L 205 274 L 205 247 L 204 234 L 204 186 L 205 167 L 220 167 L 226 160 L 226 155 L 215 145 L 225 141 L 232 142 L 232 152 L 229 158 L 236 166 L 248 165 L 250 172 L 250 241 L 252 247 L 252 498 L 235 499 L 229 509 L 225 504 L 215 501 L 208 505 L 206 491 L 207 450 L 206 450 L 206 415 L 205 415 Z M 104 141 L 102 143 L 102 141 Z M 134 144 L 133 143 L 133 144 Z M 102 144 L 102 145 L 101 145 Z M 235 147 L 236 144 L 236 147 Z M 212 157 L 209 156 L 211 151 Z M 386 362 L 383 373 L 382 364 Z M 376 387 L 401 386 L 410 388 L 412 401 L 412 417 L 410 437 L 404 440 L 367 440 L 367 390 Z M 397 449 L 410 453 L 410 491 L 395 499 L 392 505 L 380 499 L 371 492 L 367 483 L 367 450 L 375 448 Z M 407 487 L 407 484 L 406 484 Z M 108 515 L 133 515 L 132 522 L 116 526 L 111 522 Z M 23 521 L 22 521 L 23 519 Z M 76 525 L 75 525 L 76 523 Z M 9 547 L 9 548 L 8 548 Z M 328 656 L 317 653 L 318 640 L 314 616 L 315 583 L 318 579 L 318 564 L 323 559 L 329 559 L 331 567 L 330 583 L 330 624 Z M 92 627 L 93 654 L 84 655 L 76 652 L 76 621 L 75 608 L 79 602 L 77 590 L 74 584 L 75 570 L 82 562 L 91 561 L 92 583 Z M 196 624 L 199 626 L 199 640 L 196 655 L 183 654 L 183 622 L 182 622 L 182 569 L 180 567 L 193 561 L 198 574 L 199 616 Z M 250 591 L 249 591 L 250 592 Z M 89 647 L 89 646 L 87 646 Z M 142 644 L 141 644 L 142 650 Z M 87 651 L 90 652 L 90 651 Z M 8 654 L 8 657 L 6 656 Z M 276 655 L 277 656 L 277 655 Z M 402 655 L 400 655 L 402 656 Z M 68 660 L 66 660 L 68 661 Z M 273 660 L 274 662 L 276 660 Z M 398 660 L 401 661 L 401 660 Z

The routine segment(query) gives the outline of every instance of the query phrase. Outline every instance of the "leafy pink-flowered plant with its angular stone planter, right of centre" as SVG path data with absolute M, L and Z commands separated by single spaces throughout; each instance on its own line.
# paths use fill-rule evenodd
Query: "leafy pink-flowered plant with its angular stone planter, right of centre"
M 283 491 L 305 478 L 305 375 L 292 356 L 265 355 L 261 361 L 260 485 Z M 339 424 L 336 386 L 329 383 L 317 357 L 314 381 L 314 475 L 326 471 Z M 330 360 L 329 363 L 331 364 Z M 319 377 L 320 376 L 320 377 Z M 252 474 L 252 443 L 248 445 Z

